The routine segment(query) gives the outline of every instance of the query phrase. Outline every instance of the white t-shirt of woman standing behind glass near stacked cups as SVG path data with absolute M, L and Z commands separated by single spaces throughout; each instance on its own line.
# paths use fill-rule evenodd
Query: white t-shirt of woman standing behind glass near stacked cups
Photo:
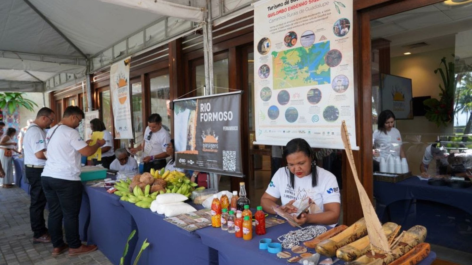
M 380 162 L 380 157 L 385 158 L 385 160 L 388 159 L 389 155 L 399 157 L 402 147 L 402 136 L 396 128 L 390 129 L 390 131 L 387 131 L 387 134 L 376 130 L 372 134 L 372 144 L 374 149 L 380 150 L 380 156 L 374 157 L 374 160 L 377 162 Z

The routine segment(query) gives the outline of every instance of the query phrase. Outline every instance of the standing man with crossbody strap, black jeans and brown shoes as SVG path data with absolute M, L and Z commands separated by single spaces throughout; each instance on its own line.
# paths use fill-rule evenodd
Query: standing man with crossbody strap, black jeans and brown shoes
M 80 158 L 93 155 L 105 140 L 89 146 L 75 130 L 82 122 L 84 112 L 69 106 L 59 124 L 46 135 L 47 160 L 41 174 L 42 188 L 49 205 L 48 228 L 51 234 L 52 256 L 69 248 L 69 256 L 95 251 L 95 245 L 82 245 L 79 238 L 79 212 L 82 203 Z M 62 239 L 62 221 L 67 244 Z

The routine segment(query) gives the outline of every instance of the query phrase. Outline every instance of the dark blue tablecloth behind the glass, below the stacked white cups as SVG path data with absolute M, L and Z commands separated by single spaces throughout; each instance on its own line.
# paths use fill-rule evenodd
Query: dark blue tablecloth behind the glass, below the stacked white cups
M 428 181 L 413 176 L 404 181 L 390 183 L 374 181 L 374 196 L 378 204 L 377 215 L 383 216 L 385 206 L 405 199 L 422 199 L 451 205 L 472 214 L 472 188 L 454 189 L 447 186 L 432 186 Z

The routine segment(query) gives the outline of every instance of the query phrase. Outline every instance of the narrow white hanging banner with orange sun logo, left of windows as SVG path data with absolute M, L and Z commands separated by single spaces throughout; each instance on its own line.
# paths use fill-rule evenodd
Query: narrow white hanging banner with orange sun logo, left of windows
M 129 63 L 128 57 L 110 67 L 110 94 L 113 106 L 115 139 L 133 139 L 131 125 L 131 106 L 129 95 Z

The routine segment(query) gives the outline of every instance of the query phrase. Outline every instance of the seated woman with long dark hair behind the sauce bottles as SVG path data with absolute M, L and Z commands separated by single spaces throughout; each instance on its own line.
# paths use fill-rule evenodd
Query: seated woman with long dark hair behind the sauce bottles
M 283 152 L 287 166 L 278 169 L 261 197 L 265 212 L 275 214 L 272 209 L 275 206 L 294 214 L 300 199 L 310 198 L 316 205 L 300 218 L 295 216 L 298 224 L 337 224 L 341 202 L 336 177 L 316 166 L 314 157 L 312 148 L 304 139 L 295 138 L 287 143 Z M 277 204 L 279 199 L 281 206 Z

